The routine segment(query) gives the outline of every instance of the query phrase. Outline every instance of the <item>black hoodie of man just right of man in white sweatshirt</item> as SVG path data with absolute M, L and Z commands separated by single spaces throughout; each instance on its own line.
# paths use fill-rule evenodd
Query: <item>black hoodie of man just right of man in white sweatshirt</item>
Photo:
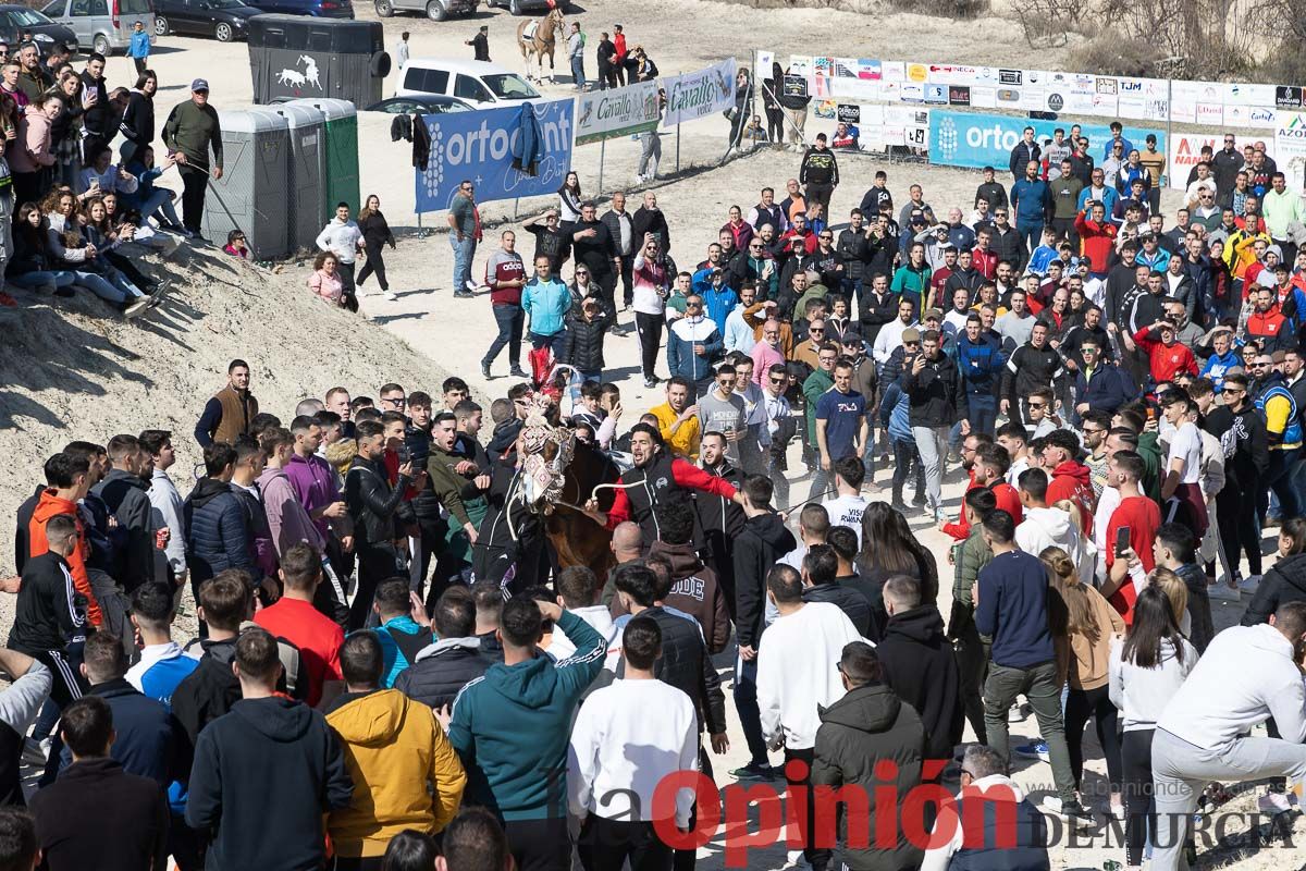
M 964 726 L 961 683 L 952 645 L 943 636 L 943 616 L 931 602 L 889 618 L 875 650 L 884 683 L 916 708 L 925 725 L 926 759 L 952 759 Z

